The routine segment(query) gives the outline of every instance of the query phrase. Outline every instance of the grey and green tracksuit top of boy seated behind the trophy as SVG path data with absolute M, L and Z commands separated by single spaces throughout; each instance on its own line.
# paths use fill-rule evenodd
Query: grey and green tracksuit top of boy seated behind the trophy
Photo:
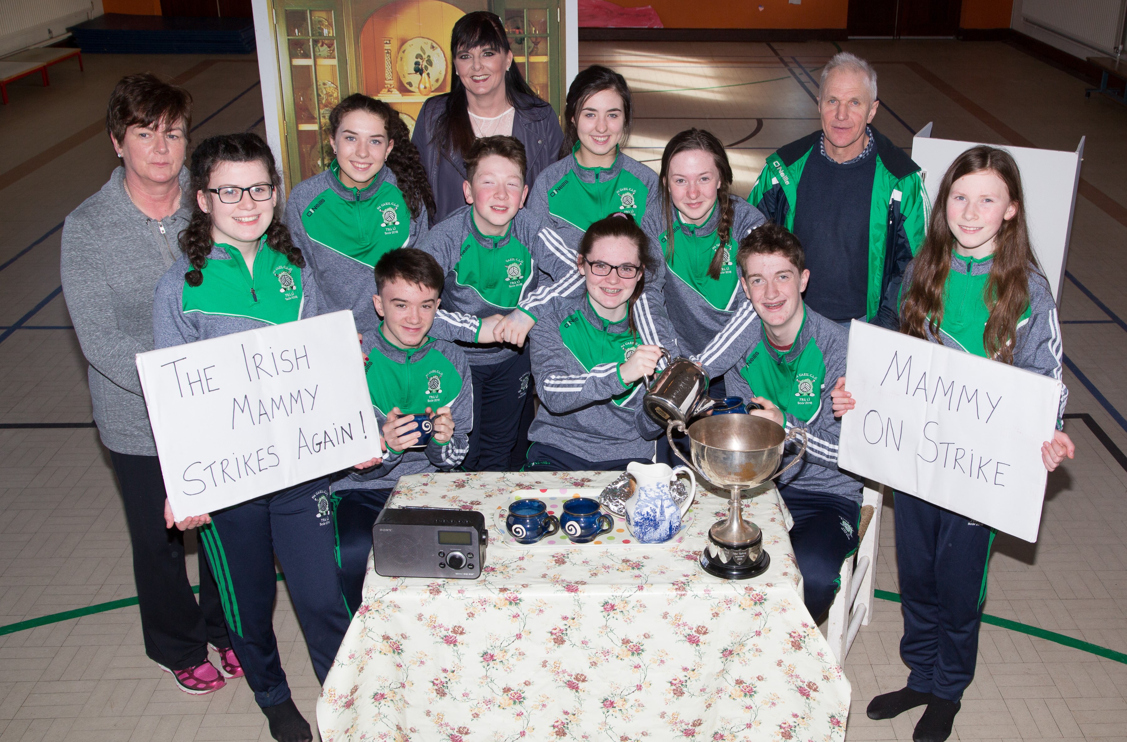
M 804 356 L 804 351 L 807 351 L 811 344 L 810 354 L 806 357 L 815 360 L 813 368 L 799 360 Z M 772 397 L 770 389 L 751 388 L 747 378 L 743 374 L 748 363 L 758 361 L 781 366 L 786 361 L 798 364 L 798 377 L 804 377 L 807 373 L 820 376 L 820 379 L 817 379 L 820 388 L 813 390 L 818 395 L 818 404 L 809 419 L 796 417 L 790 412 L 784 414 L 783 426 L 788 431 L 792 427 L 806 429 L 807 444 L 802 461 L 782 475 L 779 478 L 779 484 L 793 485 L 800 489 L 826 495 L 837 495 L 860 503 L 861 480 L 837 468 L 837 447 L 841 440 L 842 423 L 840 418 L 834 417 L 834 405 L 829 397 L 837 379 L 845 376 L 848 351 L 849 330 L 806 307 L 806 319 L 784 357 L 767 342 L 763 330 L 763 320 L 755 313 L 752 302 L 745 301 L 728 326 L 696 360 L 704 364 L 704 370 L 710 377 L 719 376 L 731 368 L 733 373 L 725 377 L 725 386 L 730 396 L 738 396 L 744 401 L 753 397 L 766 397 L 767 399 Z M 820 363 L 817 362 L 818 352 L 820 352 Z M 756 357 L 756 355 L 764 353 L 766 357 L 762 355 Z M 754 374 L 748 376 L 755 378 Z M 795 398 L 791 388 L 790 385 L 786 388 L 786 394 L 790 399 L 771 399 L 771 401 L 777 405 L 788 404 Z M 800 445 L 797 442 L 787 444 L 781 466 L 786 466 L 795 459 Z

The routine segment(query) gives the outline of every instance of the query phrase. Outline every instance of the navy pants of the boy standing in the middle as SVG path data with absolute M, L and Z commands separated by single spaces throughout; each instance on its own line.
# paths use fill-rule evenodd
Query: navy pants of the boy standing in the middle
M 531 357 L 525 343 L 506 361 L 470 366 L 473 372 L 473 429 L 470 450 L 462 461 L 465 471 L 512 470 L 517 442 L 527 439 L 532 423 Z

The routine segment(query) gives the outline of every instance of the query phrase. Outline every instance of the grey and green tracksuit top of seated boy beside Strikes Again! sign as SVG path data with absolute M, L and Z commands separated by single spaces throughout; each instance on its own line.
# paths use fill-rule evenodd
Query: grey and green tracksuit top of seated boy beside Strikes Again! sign
M 371 337 L 365 335 L 361 347 L 366 356 L 364 376 L 381 434 L 392 407 L 407 415 L 423 414 L 427 407 L 434 412 L 450 407 L 454 435 L 446 443 L 432 438 L 425 447 L 407 451 L 389 449 L 382 462 L 364 471 L 348 471 L 332 483 L 331 491 L 391 489 L 399 477 L 445 471 L 461 463 L 470 449 L 473 427 L 473 383 L 470 362 L 462 348 L 433 337 L 427 337 L 419 347 L 402 348 L 389 342 L 380 329 Z

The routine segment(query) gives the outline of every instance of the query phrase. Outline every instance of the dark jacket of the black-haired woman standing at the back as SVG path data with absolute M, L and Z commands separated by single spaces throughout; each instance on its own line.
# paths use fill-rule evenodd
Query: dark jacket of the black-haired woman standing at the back
M 423 104 L 415 134 L 411 141 L 419 150 L 423 167 L 426 168 L 434 202 L 437 206 L 435 222 L 440 222 L 451 213 L 465 205 L 462 195 L 462 182 L 465 179 L 465 165 L 458 152 L 441 152 L 438 147 L 431 144 L 438 116 L 445 109 L 450 94 L 436 96 Z M 564 132 L 552 107 L 541 100 L 522 94 L 516 96 L 516 112 L 513 116 L 513 136 L 521 140 L 527 157 L 525 183 L 530 186 L 545 167 L 559 159 Z

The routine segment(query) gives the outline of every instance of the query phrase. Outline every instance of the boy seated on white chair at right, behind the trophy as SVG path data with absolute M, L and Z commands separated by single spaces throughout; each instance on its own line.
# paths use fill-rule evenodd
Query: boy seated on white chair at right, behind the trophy
M 795 519 L 790 540 L 806 608 L 817 620 L 841 586 L 842 562 L 859 545 L 861 482 L 837 468 L 841 419 L 831 399 L 845 374 L 849 330 L 804 303 L 810 272 L 798 238 L 783 227 L 748 233 L 736 260 L 748 303 L 693 360 L 711 378 L 733 369 L 728 394 L 763 407 L 749 414 L 807 431 L 804 460 L 780 478 L 779 494 Z M 784 451 L 783 462 L 793 456 Z

